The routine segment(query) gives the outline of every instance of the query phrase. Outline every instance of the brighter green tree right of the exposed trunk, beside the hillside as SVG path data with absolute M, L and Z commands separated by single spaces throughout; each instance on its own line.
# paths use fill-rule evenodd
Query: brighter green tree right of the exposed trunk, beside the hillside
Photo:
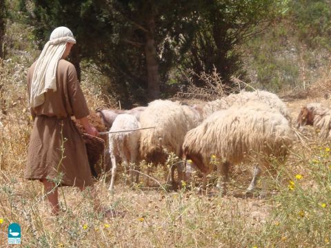
M 241 69 L 239 46 L 259 34 L 278 16 L 282 1 L 201 1 L 192 21 L 197 32 L 190 40 L 190 50 L 185 55 L 183 68 L 195 74 L 211 74 L 214 68 L 224 84 L 231 85 L 230 76 L 244 74 Z M 196 85 L 204 83 L 194 78 Z

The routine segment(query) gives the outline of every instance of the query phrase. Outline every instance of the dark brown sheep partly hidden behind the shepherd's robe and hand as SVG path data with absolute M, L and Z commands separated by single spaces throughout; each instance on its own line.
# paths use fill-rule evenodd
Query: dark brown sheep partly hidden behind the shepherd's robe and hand
M 103 165 L 103 167 L 95 167 L 101 156 L 104 154 L 106 137 L 97 137 L 86 134 L 84 127 L 78 121 L 76 121 L 75 119 L 72 119 L 72 121 L 74 121 L 75 125 L 77 126 L 77 129 L 83 137 L 83 141 L 86 145 L 86 152 L 88 154 L 88 162 L 90 164 L 91 173 L 94 177 L 97 177 L 102 170 L 106 170 L 105 165 Z M 99 116 L 97 116 L 95 112 L 90 111 L 88 121 L 99 132 L 106 131 L 106 127 L 101 122 L 101 118 L 99 118 Z

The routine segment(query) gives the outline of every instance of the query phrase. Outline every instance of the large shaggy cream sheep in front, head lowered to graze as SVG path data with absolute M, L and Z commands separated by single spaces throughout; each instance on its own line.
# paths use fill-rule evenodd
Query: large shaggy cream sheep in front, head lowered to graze
M 278 110 L 265 103 L 250 101 L 242 107 L 235 105 L 214 112 L 201 125 L 190 130 L 183 141 L 183 159 L 191 160 L 203 173 L 203 188 L 206 176 L 214 169 L 211 156 L 220 159 L 217 187 L 225 194 L 229 167 L 249 161 L 256 155 L 259 167 L 254 169 L 248 187 L 250 192 L 259 174 L 270 168 L 271 154 L 279 161 L 285 161 L 292 135 L 289 121 Z M 263 191 L 265 186 L 263 183 Z

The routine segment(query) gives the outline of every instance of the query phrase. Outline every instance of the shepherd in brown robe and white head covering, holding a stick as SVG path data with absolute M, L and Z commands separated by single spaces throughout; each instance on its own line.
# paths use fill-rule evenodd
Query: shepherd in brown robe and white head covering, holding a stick
M 65 60 L 76 41 L 65 27 L 56 28 L 39 59 L 28 70 L 28 93 L 34 118 L 24 177 L 40 180 L 52 214 L 59 214 L 57 187 L 93 185 L 83 138 L 71 120 L 74 116 L 92 136 L 88 106 L 72 63 Z M 97 203 L 95 203 L 97 202 Z M 99 200 L 94 196 L 99 208 Z

